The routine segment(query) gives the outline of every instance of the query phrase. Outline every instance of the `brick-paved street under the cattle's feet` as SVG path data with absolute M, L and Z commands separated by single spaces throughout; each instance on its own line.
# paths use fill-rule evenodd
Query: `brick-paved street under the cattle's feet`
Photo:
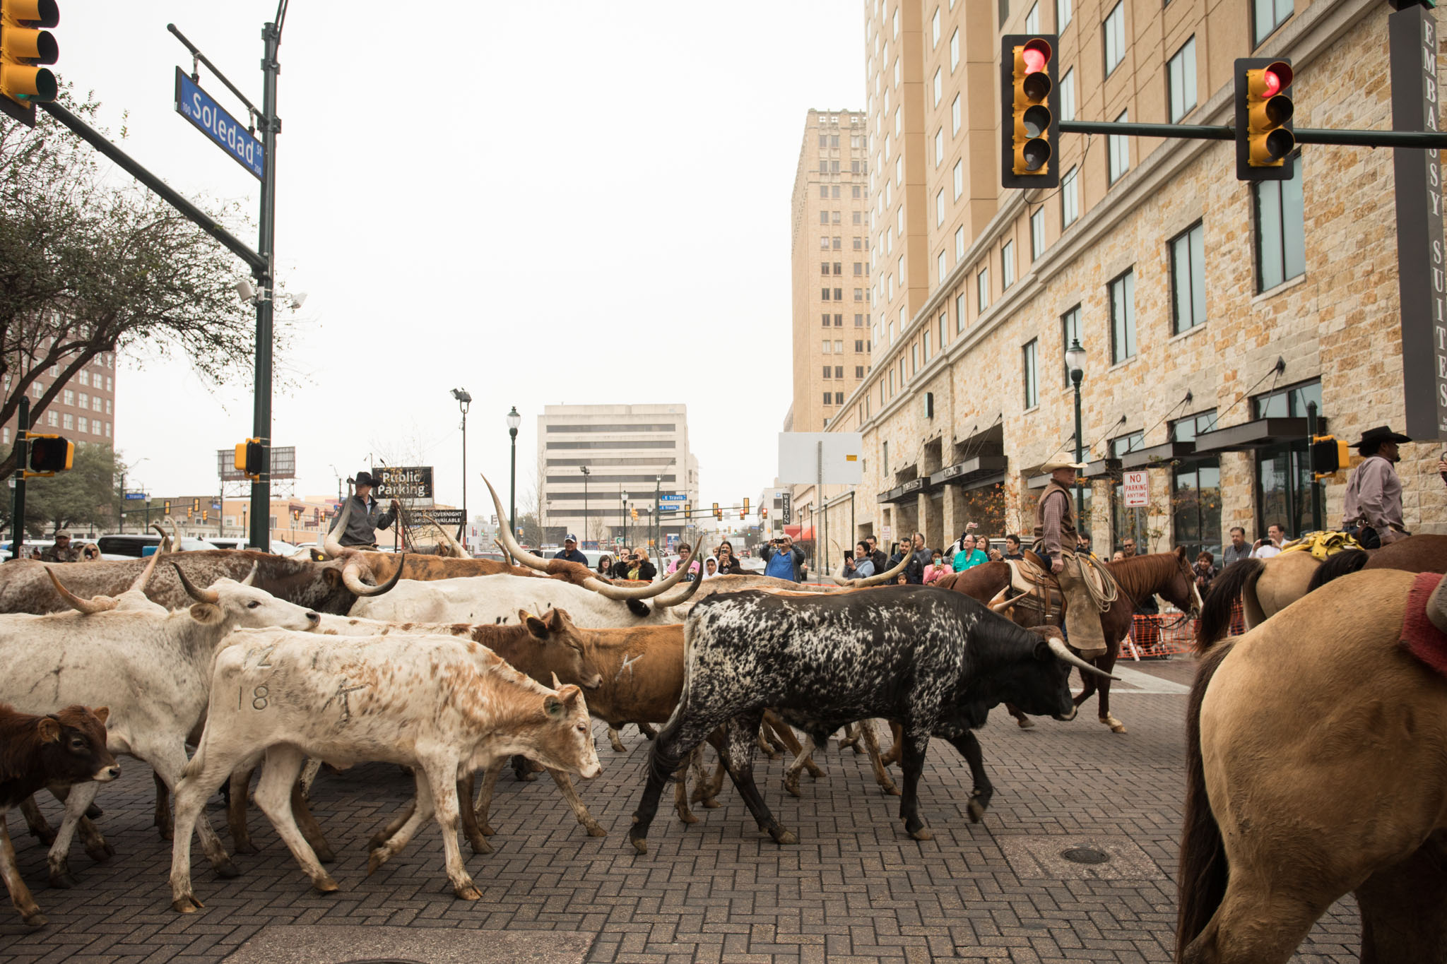
M 362 766 L 324 773 L 314 791 L 314 811 L 339 853 L 331 873 L 341 893 L 313 893 L 253 811 L 262 853 L 239 857 L 239 879 L 217 880 L 197 848 L 197 896 L 207 908 L 175 915 L 166 886 L 171 850 L 150 827 L 150 773 L 123 760 L 120 783 L 100 796 L 100 822 L 119 854 L 93 864 L 77 845 L 71 866 L 78 890 L 45 886 L 43 850 L 12 815 L 22 872 L 51 924 L 32 934 L 6 908 L 0 957 L 220 961 L 256 938 L 237 963 L 281 960 L 262 945 L 297 944 L 288 934 L 305 934 L 339 948 L 334 960 L 382 952 L 441 960 L 410 945 L 410 935 L 415 941 L 421 928 L 456 928 L 531 934 L 544 945 L 550 941 L 540 931 L 572 932 L 557 960 L 586 952 L 590 961 L 1168 961 L 1182 792 L 1185 697 L 1178 689 L 1192 663 L 1126 668 L 1146 673 L 1117 684 L 1113 711 L 1129 726 L 1127 736 L 1098 726 L 1094 704 L 1075 723 L 1042 720 L 1032 731 L 996 711 L 981 733 L 997 785 L 984 824 L 971 825 L 965 815 L 964 762 L 936 741 L 920 786 L 922 812 L 935 832 L 926 843 L 904 835 L 896 798 L 875 789 L 865 757 L 831 746 L 818 756 L 828 778 L 806 776 L 800 799 L 783 792 L 780 762 L 760 763 L 765 799 L 799 832 L 797 847 L 768 841 L 726 788 L 722 808 L 699 809 L 693 827 L 661 809 L 651 853 L 635 856 L 625 828 L 641 789 L 645 741 L 629 728 L 629 753 L 619 756 L 599 730 L 603 775 L 582 793 L 609 835 L 587 837 L 546 776 L 517 783 L 505 775 L 493 805 L 496 853 L 475 857 L 463 844 L 483 892 L 478 903 L 453 899 L 436 828 L 366 877 L 365 841 L 411 785 L 396 767 Z M 56 812 L 54 804 L 46 809 Z M 210 814 L 221 827 L 220 812 Z M 1059 853 L 1075 845 L 1097 847 L 1111 860 L 1094 867 L 1062 861 Z M 359 947 L 357 929 L 343 925 L 391 925 L 375 928 L 391 944 L 343 952 L 344 935 L 347 947 Z M 317 938 L 323 926 L 336 929 Z M 482 935 L 456 937 L 473 941 L 475 958 L 504 952 Z M 1354 947 L 1349 902 L 1317 926 L 1297 960 L 1354 961 Z M 315 954 L 298 951 L 297 960 L 318 960 Z

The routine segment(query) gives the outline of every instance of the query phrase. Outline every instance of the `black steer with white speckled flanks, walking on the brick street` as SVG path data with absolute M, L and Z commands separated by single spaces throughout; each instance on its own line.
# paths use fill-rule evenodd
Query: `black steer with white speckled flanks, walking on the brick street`
M 1058 634 L 1020 629 L 968 595 L 923 585 L 807 597 L 721 593 L 693 607 L 684 637 L 683 695 L 650 750 L 648 783 L 629 831 L 640 853 L 648 851 L 664 782 L 719 726 L 719 756 L 760 830 L 776 843 L 797 843 L 754 785 L 765 707 L 820 746 L 857 720 L 899 723 L 900 818 L 912 837 L 929 840 L 917 789 L 932 736 L 949 740 L 968 760 L 975 783 L 971 818 L 978 819 L 993 788 L 971 730 L 984 724 L 990 708 L 1009 701 L 1065 720 L 1074 710 L 1071 666 L 1106 675 Z

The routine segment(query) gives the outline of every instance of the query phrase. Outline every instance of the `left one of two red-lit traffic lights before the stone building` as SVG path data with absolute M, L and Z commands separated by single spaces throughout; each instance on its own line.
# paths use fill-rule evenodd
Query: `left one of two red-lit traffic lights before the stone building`
M 1061 169 L 1061 94 L 1055 84 L 1055 35 L 1000 38 L 1001 168 L 1006 188 L 1055 188 Z

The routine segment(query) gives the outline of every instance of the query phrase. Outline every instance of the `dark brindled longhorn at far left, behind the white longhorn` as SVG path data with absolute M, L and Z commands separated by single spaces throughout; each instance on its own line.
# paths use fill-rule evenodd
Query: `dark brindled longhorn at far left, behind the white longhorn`
M 168 556 L 171 565 L 159 567 L 146 585 L 146 595 L 166 608 L 182 608 L 192 603 L 177 572 L 182 571 L 194 585 L 211 585 L 217 580 L 243 580 L 255 569 L 252 584 L 279 600 L 295 603 L 314 613 L 346 613 L 359 593 L 385 593 L 382 585 L 365 585 L 370 575 L 362 554 L 352 552 L 328 562 L 307 562 L 269 552 L 249 549 L 207 549 L 178 552 Z M 55 591 L 46 572 L 54 571 L 80 597 L 124 593 L 142 574 L 146 562 L 33 562 L 29 559 L 0 565 L 0 613 L 59 613 L 67 601 Z M 349 574 L 350 569 L 350 574 Z M 378 580 L 373 580 L 378 581 Z

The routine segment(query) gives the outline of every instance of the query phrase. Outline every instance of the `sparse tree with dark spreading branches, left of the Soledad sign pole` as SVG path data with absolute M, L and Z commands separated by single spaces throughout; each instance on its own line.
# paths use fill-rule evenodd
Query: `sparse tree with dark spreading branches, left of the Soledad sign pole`
M 61 101 L 94 121 L 98 104 Z M 107 176 L 109 175 L 109 176 Z M 237 207 L 217 223 L 237 221 Z M 205 380 L 249 371 L 253 309 L 243 266 L 208 234 L 45 113 L 0 123 L 0 422 L 32 399 L 32 425 L 103 353 L 185 358 Z M 276 351 L 287 344 L 278 327 Z M 14 471 L 0 461 L 0 478 Z

